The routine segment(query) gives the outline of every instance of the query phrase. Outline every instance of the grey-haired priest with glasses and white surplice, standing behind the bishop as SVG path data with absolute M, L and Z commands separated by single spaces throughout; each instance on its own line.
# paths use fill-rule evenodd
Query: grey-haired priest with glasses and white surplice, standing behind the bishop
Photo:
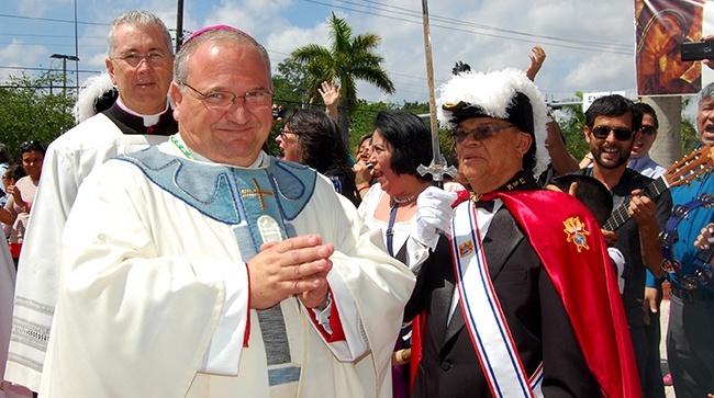
M 105 160 L 165 141 L 178 130 L 167 99 L 171 36 L 160 19 L 145 11 L 118 16 L 109 27 L 105 65 L 119 98 L 47 148 L 20 259 L 5 378 L 33 391 L 40 389 L 57 300 L 62 231 L 79 185 Z

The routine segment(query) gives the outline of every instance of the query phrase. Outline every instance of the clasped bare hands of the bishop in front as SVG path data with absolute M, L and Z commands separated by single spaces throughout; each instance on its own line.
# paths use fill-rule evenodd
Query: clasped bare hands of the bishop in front
M 260 253 L 247 263 L 250 308 L 270 308 L 292 295 L 308 308 L 323 306 L 334 251 L 332 245 L 322 245 L 319 235 L 264 243 Z

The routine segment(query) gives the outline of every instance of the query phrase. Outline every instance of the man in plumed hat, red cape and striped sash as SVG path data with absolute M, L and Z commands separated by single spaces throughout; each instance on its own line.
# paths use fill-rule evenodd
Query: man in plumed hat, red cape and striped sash
M 413 396 L 638 397 L 598 221 L 534 179 L 548 162 L 535 84 L 515 69 L 467 71 L 440 88 L 437 105 L 470 192 L 439 228 L 448 239 L 406 306 L 406 320 L 416 316 Z

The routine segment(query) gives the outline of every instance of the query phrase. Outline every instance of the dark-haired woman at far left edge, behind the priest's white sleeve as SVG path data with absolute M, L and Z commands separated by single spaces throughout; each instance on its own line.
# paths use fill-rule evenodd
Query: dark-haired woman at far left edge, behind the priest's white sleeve
M 19 179 L 14 184 L 8 185 L 7 192 L 10 198 L 8 198 L 5 206 L 0 208 L 0 223 L 12 225 L 8 242 L 10 243 L 10 253 L 15 266 L 18 266 L 18 259 L 20 259 L 20 249 L 27 228 L 32 202 L 35 200 L 37 184 L 40 184 L 45 146 L 35 140 L 24 141 L 20 145 L 20 158 L 27 175 Z

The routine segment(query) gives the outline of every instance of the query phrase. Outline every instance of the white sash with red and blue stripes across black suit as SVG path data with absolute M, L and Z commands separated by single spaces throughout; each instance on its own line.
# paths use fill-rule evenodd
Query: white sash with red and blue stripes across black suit
M 494 397 L 543 397 L 543 364 L 526 375 L 489 275 L 481 240 L 494 213 L 480 209 L 477 224 L 476 212 L 464 202 L 451 221 L 456 285 L 476 354 Z

